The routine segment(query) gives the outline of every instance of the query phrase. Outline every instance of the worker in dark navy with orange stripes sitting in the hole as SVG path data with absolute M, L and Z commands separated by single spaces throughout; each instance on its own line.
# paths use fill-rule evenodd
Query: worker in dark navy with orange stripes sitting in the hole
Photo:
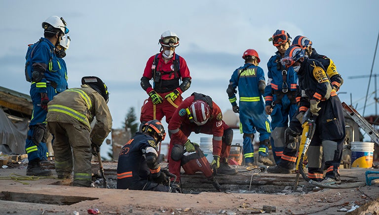
M 165 136 L 162 123 L 151 120 L 122 147 L 117 164 L 117 189 L 170 191 L 156 152 Z

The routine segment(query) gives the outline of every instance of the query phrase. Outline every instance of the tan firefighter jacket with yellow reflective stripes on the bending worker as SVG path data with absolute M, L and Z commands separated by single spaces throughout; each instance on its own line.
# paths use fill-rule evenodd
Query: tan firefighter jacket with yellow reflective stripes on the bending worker
M 112 116 L 103 96 L 88 85 L 71 88 L 54 96 L 47 104 L 46 121 L 84 125 L 88 132 L 90 123 L 96 117 L 91 131 L 92 142 L 101 145 L 112 129 Z

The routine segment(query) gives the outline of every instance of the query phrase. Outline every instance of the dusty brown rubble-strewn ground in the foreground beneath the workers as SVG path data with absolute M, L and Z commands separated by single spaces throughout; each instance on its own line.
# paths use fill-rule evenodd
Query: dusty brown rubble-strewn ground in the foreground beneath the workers
M 97 163 L 93 163 L 94 169 Z M 105 163 L 106 176 L 112 181 L 116 163 Z M 246 169 L 240 167 L 239 171 Z M 375 171 L 375 169 L 372 169 Z M 341 169 L 342 181 L 365 181 L 367 169 Z M 308 187 L 308 191 L 293 192 L 291 186 L 296 174 L 278 175 L 245 171 L 230 178 L 218 176 L 223 192 L 163 193 L 152 191 L 117 190 L 72 187 L 53 177 L 25 178 L 26 166 L 0 169 L 0 214 L 21 215 L 75 215 L 88 214 L 88 209 L 99 209 L 101 214 L 378 214 L 379 185 L 331 189 Z M 56 176 L 53 171 L 53 176 Z M 375 176 L 375 175 L 373 175 Z M 377 177 L 379 174 L 376 175 Z M 13 178 L 12 178 L 13 177 Z M 183 181 L 191 180 L 185 176 Z M 193 179 L 194 180 L 194 179 Z M 198 179 L 196 179 L 198 180 Z M 261 181 L 262 180 L 262 181 Z M 227 183 L 259 182 L 254 190 L 231 188 Z M 269 182 L 269 183 L 268 183 Z M 28 184 L 22 184 L 28 183 Z M 279 188 L 279 192 L 269 187 Z M 304 184 L 304 183 L 302 183 Z M 196 190 L 200 187 L 183 186 Z M 300 185 L 305 190 L 307 185 Z M 186 188 L 185 188 L 186 187 Z M 212 187 L 211 187 L 212 189 Z M 271 190 L 272 192 L 268 192 Z M 268 194 L 269 193 L 269 194 Z M 275 209 L 263 211 L 264 206 Z M 359 206 L 359 208 L 358 208 Z M 266 207 L 265 207 L 266 208 Z M 356 209 L 355 209 L 356 208 Z M 348 213 L 349 210 L 354 211 Z

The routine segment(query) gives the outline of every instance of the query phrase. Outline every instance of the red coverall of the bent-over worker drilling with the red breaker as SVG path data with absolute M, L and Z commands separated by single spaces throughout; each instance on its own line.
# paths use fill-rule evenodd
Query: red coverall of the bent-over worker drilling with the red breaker
M 182 110 L 189 108 L 193 101 L 193 95 L 186 98 L 174 112 L 171 121 L 168 124 L 168 132 L 171 134 L 170 148 L 168 151 L 168 169 L 171 173 L 177 176 L 177 182 L 180 180 L 181 161 L 174 161 L 171 158 L 171 150 L 175 144 L 184 145 L 191 132 L 213 134 L 213 155 L 219 155 L 221 157 L 220 162 L 227 159 L 230 153 L 230 146 L 227 146 L 222 141 L 224 130 L 229 128 L 229 126 L 223 121 L 223 114 L 220 107 L 212 101 L 213 108 L 211 109 L 211 116 L 209 117 L 208 122 L 204 125 L 198 126 L 195 123 L 190 123 L 188 115 L 183 114 L 185 111 Z

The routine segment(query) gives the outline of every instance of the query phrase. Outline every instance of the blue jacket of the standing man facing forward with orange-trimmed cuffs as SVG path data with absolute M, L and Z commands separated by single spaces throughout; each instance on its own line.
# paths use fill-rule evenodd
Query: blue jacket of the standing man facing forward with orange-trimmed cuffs
M 273 100 L 274 92 L 282 92 L 283 89 L 283 75 L 282 71 L 285 69 L 283 65 L 280 64 L 279 51 L 276 52 L 276 55 L 272 56 L 267 62 L 267 86 L 265 88 L 265 105 L 271 105 Z M 298 75 L 291 67 L 287 68 L 286 83 L 288 86 L 288 91 L 296 91 L 298 86 Z

